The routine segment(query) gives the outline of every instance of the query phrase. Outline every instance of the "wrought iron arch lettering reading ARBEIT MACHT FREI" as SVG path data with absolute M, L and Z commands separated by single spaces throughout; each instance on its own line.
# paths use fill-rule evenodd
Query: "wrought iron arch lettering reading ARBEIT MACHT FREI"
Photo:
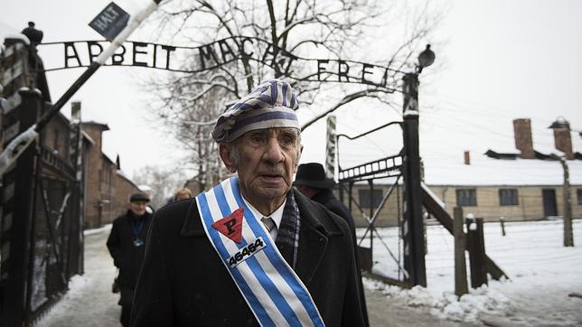
M 45 70 L 63 70 L 88 67 L 103 51 L 108 41 L 80 41 L 43 43 L 50 47 L 64 44 L 62 67 L 45 62 Z M 85 47 L 80 46 L 85 43 Z M 80 52 L 87 49 L 87 53 Z M 174 58 L 194 58 L 189 67 Z M 235 36 L 198 47 L 172 46 L 146 42 L 125 42 L 105 66 L 137 66 L 181 72 L 214 70 L 236 61 L 258 61 L 273 70 L 277 76 L 305 81 L 332 81 L 372 85 L 381 89 L 392 88 L 398 82 L 399 70 L 359 61 L 343 59 L 307 59 L 287 52 L 270 42 L 246 36 Z M 311 70 L 311 71 L 310 71 Z M 301 75 L 299 75 L 301 72 Z

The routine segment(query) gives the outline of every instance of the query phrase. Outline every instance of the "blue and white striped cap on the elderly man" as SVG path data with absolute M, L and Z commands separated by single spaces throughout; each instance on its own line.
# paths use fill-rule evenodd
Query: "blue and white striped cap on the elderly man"
M 224 111 L 212 129 L 216 142 L 232 141 L 249 131 L 273 127 L 301 129 L 293 88 L 284 80 L 268 79 Z

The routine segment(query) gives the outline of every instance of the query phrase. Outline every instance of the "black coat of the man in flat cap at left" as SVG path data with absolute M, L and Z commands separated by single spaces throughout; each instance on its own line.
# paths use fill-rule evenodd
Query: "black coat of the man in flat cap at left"
M 146 211 L 140 220 L 144 220 L 144 224 L 139 233 L 139 238 L 146 242 L 147 229 L 149 229 L 152 216 Z M 139 269 L 144 261 L 146 250 L 146 246 L 134 246 L 136 237 L 133 226 L 135 224 L 136 218 L 131 211 L 127 210 L 125 215 L 121 215 L 113 220 L 113 226 L 111 227 L 111 233 L 107 241 L 109 253 L 113 257 L 113 264 L 119 268 L 117 285 L 129 289 L 136 288 L 137 276 L 139 276 Z

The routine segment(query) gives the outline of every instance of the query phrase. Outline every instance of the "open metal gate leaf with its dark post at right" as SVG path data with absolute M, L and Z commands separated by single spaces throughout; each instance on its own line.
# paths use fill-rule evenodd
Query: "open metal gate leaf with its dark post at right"
M 387 157 L 362 163 L 360 165 L 342 169 L 339 166 L 340 197 L 343 201 L 343 192 L 346 191 L 350 197 L 349 207 L 352 209 L 352 203 L 361 207 L 357 201 L 353 200 L 352 187 L 354 182 L 367 181 L 370 186 L 370 213 L 368 217 L 368 228 L 364 236 L 359 239 L 361 244 L 363 238 L 370 236 L 370 248 L 360 248 L 361 261 L 363 267 L 371 267 L 372 247 L 374 234 L 380 237 L 378 230 L 374 227 L 374 221 L 378 218 L 380 210 L 386 204 L 390 196 L 399 197 L 399 187 L 402 186 L 402 200 L 397 203 L 397 219 L 399 234 L 397 236 L 398 244 L 396 250 L 392 250 L 383 238 L 379 238 L 383 248 L 385 248 L 390 257 L 397 266 L 397 275 L 394 277 L 382 276 L 382 279 L 396 285 L 411 287 L 414 285 L 427 286 L 427 270 L 425 265 L 426 242 L 425 242 L 425 224 L 422 214 L 422 190 L 421 190 L 421 170 L 420 155 L 418 152 L 418 73 L 407 73 L 403 77 L 402 94 L 403 98 L 403 121 L 390 122 L 386 125 L 379 126 L 361 135 L 349 137 L 347 135 L 338 135 L 336 141 L 338 146 L 339 159 L 339 137 L 345 136 L 354 140 L 382 128 L 399 125 L 402 129 L 402 149 L 398 154 L 392 154 Z M 338 160 L 339 163 L 339 160 Z M 373 201 L 374 183 L 378 178 L 391 178 L 389 192 L 382 198 L 375 210 L 371 202 Z M 396 190 L 396 192 L 394 192 Z M 393 194 L 394 193 L 394 194 Z M 401 204 L 401 207 L 400 207 Z M 359 208 L 361 210 L 361 208 Z M 363 213 L 363 210 L 361 210 Z M 401 242 L 400 242 L 401 241 Z M 398 253 L 398 256 L 395 255 Z M 367 262 L 366 262 L 367 261 Z

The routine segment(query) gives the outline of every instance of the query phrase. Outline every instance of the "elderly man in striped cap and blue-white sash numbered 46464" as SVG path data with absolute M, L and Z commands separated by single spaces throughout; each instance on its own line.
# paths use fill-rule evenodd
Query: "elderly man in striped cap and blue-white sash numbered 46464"
M 219 117 L 212 136 L 236 174 L 156 212 L 132 325 L 364 325 L 350 228 L 291 188 L 297 107 L 271 79 Z

